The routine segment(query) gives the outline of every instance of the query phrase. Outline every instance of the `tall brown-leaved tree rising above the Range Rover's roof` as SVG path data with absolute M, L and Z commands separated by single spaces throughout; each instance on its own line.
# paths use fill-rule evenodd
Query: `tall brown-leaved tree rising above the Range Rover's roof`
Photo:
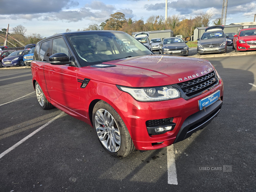
M 126 22 L 125 14 L 121 12 L 116 12 L 110 15 L 108 22 L 106 23 L 104 30 L 115 30 L 118 31 L 122 28 L 123 24 Z

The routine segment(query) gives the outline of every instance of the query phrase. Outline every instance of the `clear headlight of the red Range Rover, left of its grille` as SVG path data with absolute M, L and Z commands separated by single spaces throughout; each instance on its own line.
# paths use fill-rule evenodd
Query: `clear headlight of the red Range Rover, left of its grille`
M 119 90 L 129 93 L 134 99 L 141 102 L 163 101 L 180 98 L 180 91 L 171 85 L 163 87 L 132 88 L 116 85 Z

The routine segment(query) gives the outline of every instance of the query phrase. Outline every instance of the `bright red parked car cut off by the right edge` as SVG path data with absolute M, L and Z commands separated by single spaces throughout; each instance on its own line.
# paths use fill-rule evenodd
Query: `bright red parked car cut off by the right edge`
M 256 28 L 241 29 L 238 35 L 234 35 L 233 49 L 236 52 L 256 50 Z

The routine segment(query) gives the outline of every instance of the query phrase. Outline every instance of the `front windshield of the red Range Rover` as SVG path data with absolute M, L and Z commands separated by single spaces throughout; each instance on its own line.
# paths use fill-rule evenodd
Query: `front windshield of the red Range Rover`
M 152 54 L 124 32 L 85 32 L 67 35 L 82 66 Z M 132 48 L 131 48 L 132 47 Z

